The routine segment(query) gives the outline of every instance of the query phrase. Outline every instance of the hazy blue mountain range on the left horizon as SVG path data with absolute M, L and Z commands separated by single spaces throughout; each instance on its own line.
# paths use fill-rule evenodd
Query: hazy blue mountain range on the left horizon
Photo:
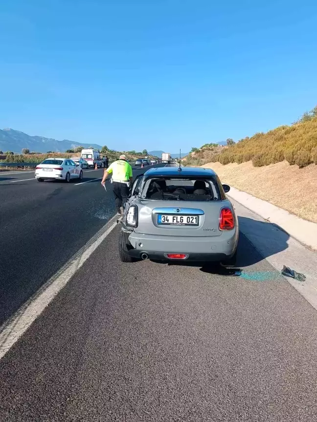
M 53 138 L 45 138 L 44 136 L 30 136 L 20 130 L 14 129 L 0 129 L 0 150 L 13 151 L 21 154 L 23 148 L 28 148 L 30 151 L 35 152 L 65 152 L 67 149 L 76 147 L 97 148 L 100 149 L 101 145 L 98 144 L 83 144 L 75 141 L 57 141 Z

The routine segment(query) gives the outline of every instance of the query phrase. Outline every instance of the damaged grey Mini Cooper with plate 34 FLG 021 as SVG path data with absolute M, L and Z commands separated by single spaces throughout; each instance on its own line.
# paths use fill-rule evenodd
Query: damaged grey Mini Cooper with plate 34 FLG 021
M 161 167 L 136 176 L 121 221 L 121 261 L 234 266 L 239 225 L 229 190 L 211 169 Z

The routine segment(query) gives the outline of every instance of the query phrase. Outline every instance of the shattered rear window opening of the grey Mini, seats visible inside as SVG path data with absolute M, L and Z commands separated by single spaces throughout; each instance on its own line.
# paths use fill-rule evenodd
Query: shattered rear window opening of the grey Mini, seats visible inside
M 160 201 L 221 201 L 215 177 L 153 178 L 144 182 L 141 198 Z

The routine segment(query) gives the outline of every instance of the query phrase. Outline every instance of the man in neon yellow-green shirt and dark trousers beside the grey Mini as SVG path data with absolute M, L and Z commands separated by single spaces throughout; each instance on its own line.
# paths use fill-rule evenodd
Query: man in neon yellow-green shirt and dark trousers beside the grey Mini
M 122 215 L 123 207 L 130 193 L 130 183 L 132 182 L 132 167 L 127 163 L 124 154 L 120 155 L 119 159 L 114 161 L 108 169 L 105 169 L 101 181 L 102 186 L 105 185 L 108 174 L 112 174 L 115 208 L 118 214 Z

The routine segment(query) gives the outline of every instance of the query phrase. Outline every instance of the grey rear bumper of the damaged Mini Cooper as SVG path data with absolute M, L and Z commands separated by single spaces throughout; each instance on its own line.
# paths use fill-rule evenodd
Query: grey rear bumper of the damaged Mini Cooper
M 223 232 L 220 236 L 162 236 L 131 232 L 127 253 L 141 258 L 146 253 L 150 259 L 170 260 L 167 253 L 186 253 L 181 261 L 224 261 L 236 251 L 239 229 Z M 173 259 L 174 260 L 174 259 Z

